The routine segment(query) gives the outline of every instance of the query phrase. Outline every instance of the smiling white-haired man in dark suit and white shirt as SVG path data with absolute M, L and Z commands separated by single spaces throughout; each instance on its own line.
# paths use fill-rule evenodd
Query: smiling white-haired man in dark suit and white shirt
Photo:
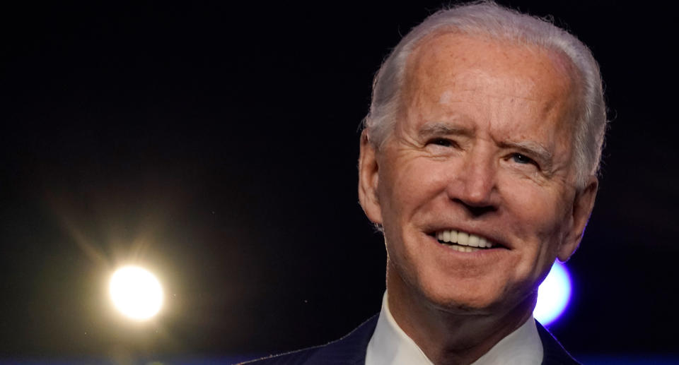
M 596 61 L 564 30 L 492 3 L 424 20 L 378 72 L 361 133 L 382 311 L 261 364 L 576 364 L 532 313 L 580 243 L 605 124 Z

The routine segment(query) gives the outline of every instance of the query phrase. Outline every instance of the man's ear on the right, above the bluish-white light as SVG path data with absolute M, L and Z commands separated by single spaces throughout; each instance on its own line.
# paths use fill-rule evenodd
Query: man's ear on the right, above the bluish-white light
M 598 179 L 596 179 L 596 176 L 592 176 L 585 188 L 576 192 L 573 201 L 571 227 L 561 246 L 559 246 L 559 252 L 557 253 L 559 261 L 568 261 L 575 250 L 578 249 L 578 246 L 580 246 L 587 221 L 594 208 L 594 198 L 596 198 L 598 185 Z

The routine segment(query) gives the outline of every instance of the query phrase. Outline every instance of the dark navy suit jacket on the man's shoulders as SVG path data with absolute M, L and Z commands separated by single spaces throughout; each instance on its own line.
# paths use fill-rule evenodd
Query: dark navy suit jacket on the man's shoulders
M 267 357 L 244 364 L 251 365 L 364 365 L 366 349 L 377 325 L 378 316 L 368 319 L 358 328 L 327 345 L 301 349 L 274 357 Z M 538 321 L 538 334 L 542 340 L 542 365 L 576 365 L 571 355 Z

